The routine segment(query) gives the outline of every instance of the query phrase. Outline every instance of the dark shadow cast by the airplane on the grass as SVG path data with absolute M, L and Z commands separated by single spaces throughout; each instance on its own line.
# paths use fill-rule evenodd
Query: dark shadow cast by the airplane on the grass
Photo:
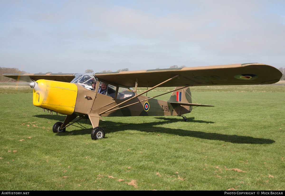
M 51 115 L 36 115 L 35 117 L 38 118 L 46 118 L 50 120 L 55 120 L 54 116 Z M 64 121 L 65 116 L 60 116 L 62 118 L 56 117 L 58 121 Z M 264 138 L 253 138 L 249 136 L 237 136 L 237 135 L 226 135 L 226 134 L 217 134 L 217 133 L 206 133 L 200 131 L 192 131 L 192 130 L 182 130 L 182 129 L 172 129 L 166 127 L 157 127 L 157 125 L 167 125 L 173 122 L 181 122 L 181 123 L 214 123 L 211 121 L 203 121 L 203 120 L 194 120 L 194 117 L 188 118 L 188 122 L 183 122 L 181 119 L 176 118 L 166 118 L 166 117 L 155 117 L 160 120 L 164 121 L 157 121 L 157 122 L 143 122 L 143 123 L 121 123 L 121 122 L 112 122 L 112 121 L 105 121 L 101 122 L 101 126 L 105 129 L 106 134 L 124 130 L 137 130 L 141 132 L 159 132 L 159 133 L 166 133 L 166 134 L 173 134 L 178 136 L 188 136 L 194 138 L 201 138 L 207 140 L 220 140 L 224 142 L 231 142 L 236 144 L 272 144 L 275 141 L 270 139 Z M 81 122 L 80 122 L 81 121 Z M 90 128 L 86 129 L 86 124 L 91 125 L 90 121 L 87 120 L 80 120 L 80 123 L 74 123 L 72 126 L 76 126 L 78 128 L 82 128 L 81 130 L 72 130 L 72 126 L 66 129 L 65 133 L 59 133 L 58 136 L 65 136 L 72 132 L 72 135 L 84 135 L 90 134 Z M 105 136 L 105 138 L 107 138 Z

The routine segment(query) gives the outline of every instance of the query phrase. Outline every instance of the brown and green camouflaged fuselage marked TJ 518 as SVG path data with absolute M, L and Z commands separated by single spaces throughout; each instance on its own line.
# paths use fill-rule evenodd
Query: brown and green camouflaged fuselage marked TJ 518
M 80 85 L 77 86 L 78 86 L 78 96 L 76 100 L 74 113 L 79 115 L 100 114 L 101 112 L 104 112 L 105 110 L 113 106 L 116 106 L 122 103 L 123 101 L 128 100 L 128 99 L 125 100 L 115 99 L 110 96 L 106 96 L 103 94 L 87 90 Z M 184 91 L 186 92 L 186 90 Z M 190 97 L 191 93 L 189 88 L 187 88 L 186 95 L 185 93 L 182 95 L 182 101 L 184 101 L 183 98 L 185 97 L 184 99 L 187 100 L 186 103 L 192 103 Z M 178 102 L 176 101 L 176 92 L 172 93 L 168 101 L 157 100 L 154 98 L 146 100 L 148 98 L 149 97 L 143 95 L 137 98 L 133 98 L 132 100 L 126 102 L 125 104 L 117 107 L 119 109 L 115 108 L 117 110 L 113 112 L 107 112 L 105 114 L 102 114 L 101 116 L 172 116 L 172 115 L 180 116 L 182 114 L 189 113 L 192 110 L 191 106 L 180 106 L 177 104 L 170 103 L 170 102 Z M 130 104 L 133 105 L 123 107 Z

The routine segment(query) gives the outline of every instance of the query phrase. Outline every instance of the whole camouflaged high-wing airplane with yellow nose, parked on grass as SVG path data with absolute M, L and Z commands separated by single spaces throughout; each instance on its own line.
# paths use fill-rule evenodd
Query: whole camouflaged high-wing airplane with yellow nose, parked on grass
M 81 119 L 89 119 L 93 130 L 91 139 L 105 137 L 99 126 L 102 116 L 181 116 L 193 106 L 191 86 L 273 84 L 282 73 L 269 65 L 245 63 L 216 66 L 152 69 L 139 71 L 84 73 L 84 74 L 3 74 L 30 82 L 33 104 L 53 114 L 66 115 L 64 122 L 56 122 L 54 133 Z M 142 93 L 137 88 L 146 87 Z M 147 92 L 157 87 L 175 87 L 168 101 L 148 97 Z M 146 94 L 145 96 L 143 94 Z M 72 122 L 76 117 L 78 120 Z M 105 121 L 105 120 L 103 120 Z

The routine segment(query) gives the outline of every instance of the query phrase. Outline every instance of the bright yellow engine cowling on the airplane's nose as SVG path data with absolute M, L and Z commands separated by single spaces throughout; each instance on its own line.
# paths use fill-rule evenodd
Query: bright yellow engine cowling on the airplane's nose
M 66 115 L 74 112 L 78 91 L 76 84 L 37 80 L 32 88 L 35 106 Z

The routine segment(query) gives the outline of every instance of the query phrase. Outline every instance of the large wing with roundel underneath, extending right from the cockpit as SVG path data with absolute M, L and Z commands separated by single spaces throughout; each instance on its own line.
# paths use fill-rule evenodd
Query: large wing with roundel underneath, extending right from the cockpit
M 260 63 L 108 72 L 94 75 L 107 82 L 128 87 L 134 87 L 137 78 L 137 87 L 153 87 L 176 75 L 179 77 L 160 87 L 273 84 L 282 77 L 278 69 Z

